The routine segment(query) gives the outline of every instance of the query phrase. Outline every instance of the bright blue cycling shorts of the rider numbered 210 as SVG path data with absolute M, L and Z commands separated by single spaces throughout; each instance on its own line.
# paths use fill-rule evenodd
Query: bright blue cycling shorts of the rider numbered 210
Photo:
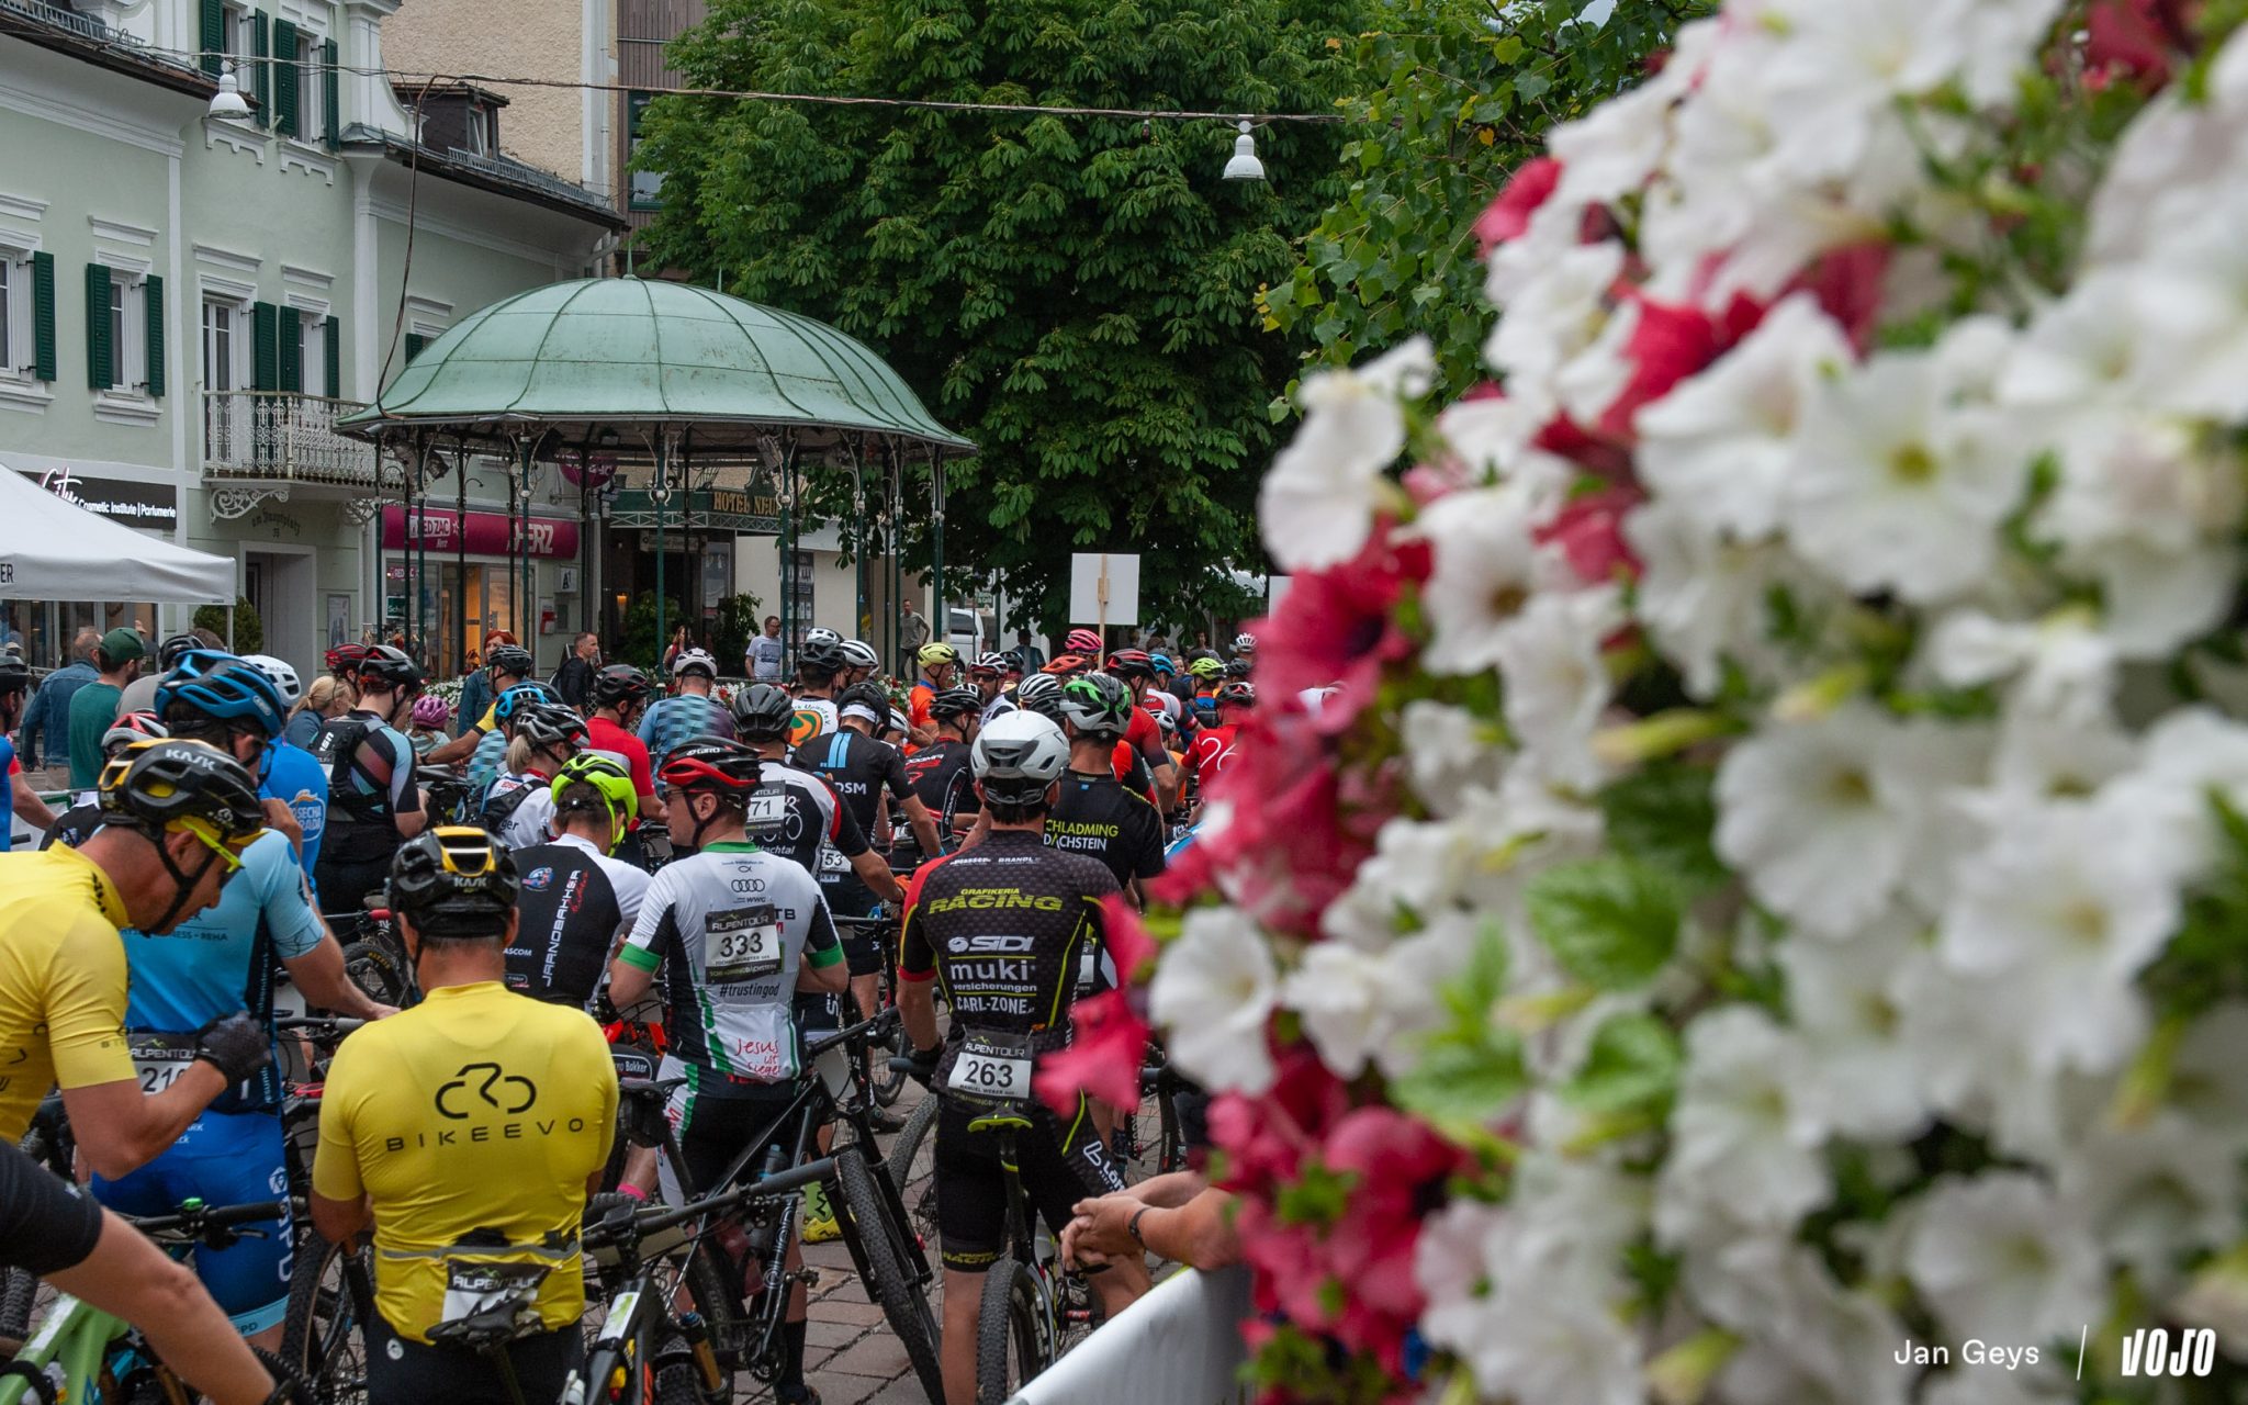
M 124 1180 L 94 1176 L 94 1198 L 117 1214 L 178 1214 L 180 1203 L 200 1196 L 205 1205 L 288 1203 L 288 1169 L 281 1151 L 279 1113 L 205 1113 L 146 1167 Z M 232 1248 L 189 1250 L 196 1277 L 243 1335 L 265 1331 L 288 1313 L 290 1216 L 250 1225 L 265 1239 L 238 1239 Z

